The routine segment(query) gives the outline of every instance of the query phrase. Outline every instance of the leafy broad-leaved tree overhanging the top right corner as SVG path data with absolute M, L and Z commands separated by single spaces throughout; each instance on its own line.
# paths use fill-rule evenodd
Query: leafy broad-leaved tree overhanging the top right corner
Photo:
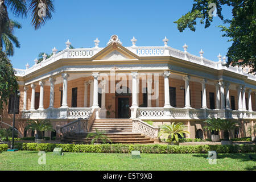
M 228 37 L 229 42 L 233 42 L 229 47 L 227 57 L 229 65 L 250 67 L 250 73 L 255 73 L 256 57 L 256 2 L 253 0 L 194 0 L 192 10 L 178 19 L 177 28 L 183 32 L 185 28 L 196 31 L 195 25 L 197 18 L 201 24 L 208 28 L 213 22 L 213 10 L 216 9 L 216 15 L 223 20 L 223 23 L 229 24 L 229 27 L 220 25 L 222 36 Z M 231 6 L 232 19 L 224 19 L 222 7 Z

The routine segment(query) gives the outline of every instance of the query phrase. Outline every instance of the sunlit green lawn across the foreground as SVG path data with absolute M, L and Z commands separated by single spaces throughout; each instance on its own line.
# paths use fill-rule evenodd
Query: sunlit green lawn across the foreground
M 207 154 L 95 154 L 64 152 L 63 156 L 46 153 L 46 164 L 38 164 L 35 151 L 2 152 L 2 170 L 252 170 L 256 162 L 249 154 L 218 154 L 217 164 L 208 163 Z M 256 158 L 256 153 L 251 154 Z

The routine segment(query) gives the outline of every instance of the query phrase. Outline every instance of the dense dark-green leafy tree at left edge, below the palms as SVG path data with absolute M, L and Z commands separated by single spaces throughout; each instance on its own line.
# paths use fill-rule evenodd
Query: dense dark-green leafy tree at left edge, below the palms
M 14 75 L 13 65 L 5 52 L 0 51 L 0 113 L 3 110 L 10 94 L 18 89 L 17 78 Z

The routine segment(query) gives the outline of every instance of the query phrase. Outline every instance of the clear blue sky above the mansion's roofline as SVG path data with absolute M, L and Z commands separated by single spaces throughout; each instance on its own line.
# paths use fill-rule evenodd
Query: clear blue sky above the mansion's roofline
M 40 52 L 51 53 L 53 47 L 64 49 L 68 39 L 75 48 L 94 47 L 96 38 L 100 40 L 99 47 L 105 47 L 110 36 L 117 34 L 123 46 L 131 46 L 133 36 L 137 46 L 163 46 L 162 40 L 167 36 L 168 46 L 183 50 L 186 43 L 189 53 L 199 56 L 202 48 L 204 57 L 218 61 L 218 53 L 226 55 L 231 46 L 216 27 L 222 24 L 218 17 L 214 17 L 207 29 L 197 24 L 196 32 L 188 29 L 179 32 L 173 23 L 190 11 L 192 4 L 192 0 L 55 0 L 53 19 L 36 31 L 30 17 L 21 19 L 9 13 L 11 19 L 22 24 L 22 29 L 15 30 L 21 46 L 15 48 L 15 55 L 10 60 L 14 68 L 25 69 L 27 63 L 34 64 Z M 224 18 L 232 17 L 230 7 L 224 7 L 222 13 Z

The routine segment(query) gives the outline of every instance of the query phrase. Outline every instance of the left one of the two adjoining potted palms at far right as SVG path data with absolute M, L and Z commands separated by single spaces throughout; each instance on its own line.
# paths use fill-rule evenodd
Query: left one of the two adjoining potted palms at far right
M 210 135 L 210 139 L 212 142 L 218 142 L 220 141 L 220 135 L 218 134 L 218 126 L 217 126 L 217 119 L 215 118 L 209 118 L 204 121 L 207 123 L 207 126 L 204 127 L 205 130 L 212 131 L 212 134 Z

